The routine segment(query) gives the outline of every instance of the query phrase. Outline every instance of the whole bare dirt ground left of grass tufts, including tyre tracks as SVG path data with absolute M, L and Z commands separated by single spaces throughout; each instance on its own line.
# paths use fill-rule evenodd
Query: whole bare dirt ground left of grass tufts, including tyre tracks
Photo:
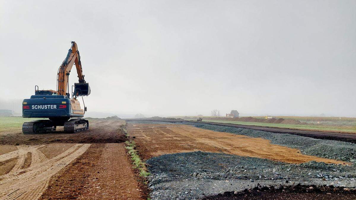
M 0 135 L 0 199 L 147 199 L 125 151 L 125 121 L 88 131 Z

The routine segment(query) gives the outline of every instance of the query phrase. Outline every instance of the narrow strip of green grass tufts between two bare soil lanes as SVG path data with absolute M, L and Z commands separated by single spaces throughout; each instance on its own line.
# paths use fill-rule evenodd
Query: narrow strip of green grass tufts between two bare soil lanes
M 132 140 L 129 140 L 126 141 L 125 144 L 126 144 L 125 148 L 127 149 L 127 152 L 131 156 L 133 167 L 140 171 L 141 177 L 144 178 L 148 177 L 150 175 L 150 172 L 148 172 L 146 168 L 146 163 L 142 162 L 140 156 L 138 156 L 138 153 L 136 151 L 136 143 Z

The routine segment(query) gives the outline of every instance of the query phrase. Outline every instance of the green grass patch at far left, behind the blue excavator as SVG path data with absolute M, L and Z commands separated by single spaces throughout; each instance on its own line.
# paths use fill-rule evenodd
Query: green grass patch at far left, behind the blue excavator
M 38 120 L 43 118 L 22 118 L 0 116 L 0 132 L 12 131 L 22 127 L 23 122 Z

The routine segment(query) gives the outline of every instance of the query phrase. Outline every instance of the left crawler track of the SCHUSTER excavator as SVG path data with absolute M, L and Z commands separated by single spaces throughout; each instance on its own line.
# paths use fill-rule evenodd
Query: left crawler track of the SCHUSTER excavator
M 56 131 L 50 120 L 36 120 L 22 124 L 23 134 L 49 133 Z

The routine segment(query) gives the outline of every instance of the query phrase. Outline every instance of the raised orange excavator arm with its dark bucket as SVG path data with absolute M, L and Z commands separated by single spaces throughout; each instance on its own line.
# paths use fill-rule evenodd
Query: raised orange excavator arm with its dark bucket
M 66 59 L 64 59 L 62 65 L 58 69 L 58 74 L 57 74 L 57 92 L 58 95 L 64 95 L 68 96 L 67 90 L 69 88 L 69 73 L 70 70 L 73 67 L 73 64 L 75 64 L 75 67 L 77 68 L 77 74 L 79 78 L 79 83 L 75 83 L 75 93 L 78 93 L 78 95 L 89 95 L 90 94 L 90 87 L 89 84 L 86 83 L 84 80 L 84 75 L 83 75 L 83 68 L 82 68 L 82 63 L 80 62 L 80 55 L 78 51 L 78 46 L 77 43 L 72 41 L 72 46 L 68 50 L 68 54 Z

